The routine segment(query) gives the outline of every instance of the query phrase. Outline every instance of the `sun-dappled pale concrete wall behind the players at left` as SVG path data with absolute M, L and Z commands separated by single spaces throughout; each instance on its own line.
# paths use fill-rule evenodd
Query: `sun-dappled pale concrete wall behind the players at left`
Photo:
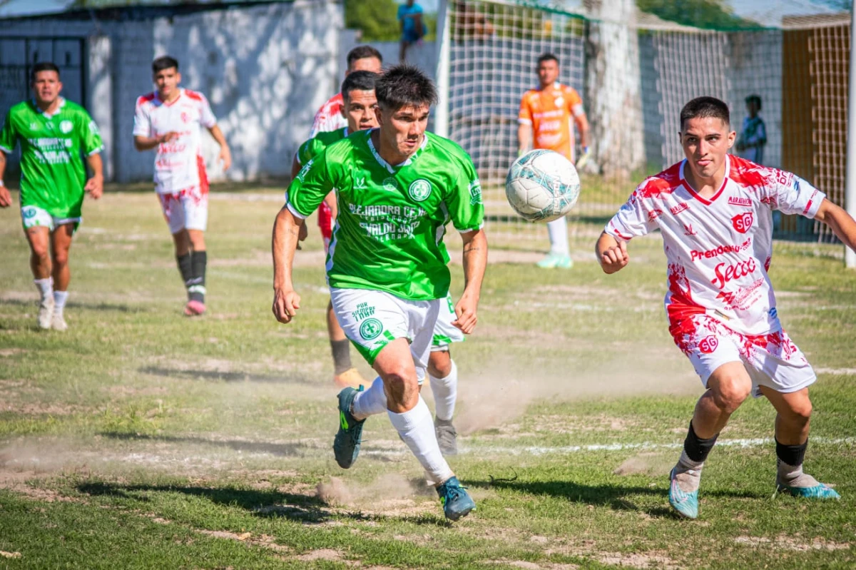
M 337 91 L 341 30 L 341 4 L 310 0 L 141 21 L 0 20 L 0 37 L 87 39 L 83 103 L 120 182 L 152 176 L 154 156 L 135 151 L 131 133 L 136 99 L 153 89 L 152 59 L 164 54 L 180 62 L 182 86 L 211 101 L 232 150 L 230 179 L 288 175 L 312 116 Z M 204 154 L 211 179 L 223 178 L 208 135 Z

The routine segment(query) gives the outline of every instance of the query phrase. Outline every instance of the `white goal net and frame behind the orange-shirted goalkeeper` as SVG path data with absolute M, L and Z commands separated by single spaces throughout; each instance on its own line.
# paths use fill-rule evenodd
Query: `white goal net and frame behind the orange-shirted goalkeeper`
M 544 227 L 517 217 L 504 195 L 518 148 L 520 98 L 538 86 L 536 62 L 544 52 L 558 57 L 559 80 L 580 92 L 591 123 L 593 159 L 581 173 L 568 224 L 574 246 L 591 246 L 636 183 L 683 157 L 681 107 L 701 95 L 728 103 L 739 136 L 746 98 L 757 96 L 766 132 L 758 162 L 803 176 L 843 205 L 849 15 L 710 30 L 640 13 L 627 0 L 595 2 L 601 12 L 586 16 L 531 0 L 441 4 L 448 49 L 440 52 L 438 75 L 446 66 L 441 104 L 448 136 L 479 170 L 498 245 L 547 248 Z M 576 140 L 579 151 L 579 134 Z M 758 150 L 746 140 L 736 153 Z M 832 237 L 805 219 L 777 217 L 776 224 L 783 237 Z

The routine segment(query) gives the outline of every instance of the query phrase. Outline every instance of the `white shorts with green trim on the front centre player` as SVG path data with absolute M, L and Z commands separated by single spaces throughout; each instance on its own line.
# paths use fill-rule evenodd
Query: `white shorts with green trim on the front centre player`
M 389 342 L 410 341 L 416 377 L 423 383 L 442 299 L 407 300 L 372 289 L 330 288 L 330 301 L 345 335 L 370 365 Z

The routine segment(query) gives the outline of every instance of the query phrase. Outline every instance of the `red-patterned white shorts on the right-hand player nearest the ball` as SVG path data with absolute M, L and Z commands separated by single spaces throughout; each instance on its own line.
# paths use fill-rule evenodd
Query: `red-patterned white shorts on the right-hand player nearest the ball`
M 742 362 L 752 378 L 752 395 L 759 386 L 788 394 L 817 380 L 805 354 L 784 330 L 766 335 L 743 335 L 707 314 L 693 315 L 669 332 L 693 363 L 704 387 L 710 375 L 727 362 Z

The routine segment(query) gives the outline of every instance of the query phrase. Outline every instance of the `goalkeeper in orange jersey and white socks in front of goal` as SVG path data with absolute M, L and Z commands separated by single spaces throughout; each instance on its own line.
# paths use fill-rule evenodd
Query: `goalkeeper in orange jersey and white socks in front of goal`
M 562 85 L 559 79 L 559 59 L 551 53 L 538 57 L 538 89 L 527 91 L 520 100 L 520 116 L 517 128 L 518 154 L 523 154 L 532 144 L 534 148 L 556 151 L 574 162 L 574 125 L 580 131 L 583 154 L 577 161 L 577 169 L 583 167 L 589 157 L 589 123 L 583 100 L 574 87 Z M 538 262 L 544 269 L 569 269 L 574 263 L 568 247 L 568 220 L 560 217 L 547 224 L 550 236 L 550 253 Z

